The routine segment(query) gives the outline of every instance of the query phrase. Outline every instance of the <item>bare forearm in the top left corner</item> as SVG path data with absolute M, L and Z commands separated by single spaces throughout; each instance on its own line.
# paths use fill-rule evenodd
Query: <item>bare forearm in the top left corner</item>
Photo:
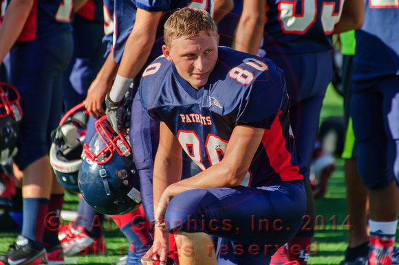
M 32 0 L 10 1 L 0 27 L 0 62 L 3 62 L 4 57 L 21 34 L 32 5 Z

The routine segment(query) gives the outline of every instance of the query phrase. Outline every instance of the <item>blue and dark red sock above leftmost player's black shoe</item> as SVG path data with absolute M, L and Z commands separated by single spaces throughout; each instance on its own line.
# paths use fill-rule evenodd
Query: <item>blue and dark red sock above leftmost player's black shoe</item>
M 48 211 L 49 200 L 46 198 L 23 198 L 22 235 L 35 241 L 36 249 L 43 248 L 43 233 L 45 216 Z

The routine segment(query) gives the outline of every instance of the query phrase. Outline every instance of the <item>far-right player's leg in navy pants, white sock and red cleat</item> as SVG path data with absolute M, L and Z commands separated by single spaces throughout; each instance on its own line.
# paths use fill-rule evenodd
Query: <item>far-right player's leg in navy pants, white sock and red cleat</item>
M 397 82 L 397 77 L 384 80 L 368 91 L 354 93 L 351 101 L 358 171 L 369 192 L 370 264 L 390 264 L 398 223 Z

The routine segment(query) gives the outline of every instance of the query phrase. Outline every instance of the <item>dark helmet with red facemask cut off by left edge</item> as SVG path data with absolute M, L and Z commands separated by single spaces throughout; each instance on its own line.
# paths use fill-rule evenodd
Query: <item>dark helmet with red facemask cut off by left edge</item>
M 11 84 L 0 82 L 0 162 L 17 154 L 17 139 L 22 110 L 19 92 Z

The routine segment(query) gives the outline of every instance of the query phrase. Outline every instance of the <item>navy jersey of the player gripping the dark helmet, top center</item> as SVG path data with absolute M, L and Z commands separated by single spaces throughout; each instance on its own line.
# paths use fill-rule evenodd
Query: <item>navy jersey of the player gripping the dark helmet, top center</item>
M 128 0 L 116 1 L 115 3 L 115 31 L 114 31 L 114 60 L 119 65 L 122 54 L 125 49 L 127 38 L 133 30 L 134 21 L 136 20 L 137 8 L 147 10 L 149 12 L 164 11 L 160 21 L 160 26 L 155 37 L 155 43 L 151 50 L 150 57 L 157 58 L 162 54 L 162 45 L 164 44 L 164 23 L 169 17 L 169 12 L 177 8 L 201 8 L 213 14 L 213 0 Z

